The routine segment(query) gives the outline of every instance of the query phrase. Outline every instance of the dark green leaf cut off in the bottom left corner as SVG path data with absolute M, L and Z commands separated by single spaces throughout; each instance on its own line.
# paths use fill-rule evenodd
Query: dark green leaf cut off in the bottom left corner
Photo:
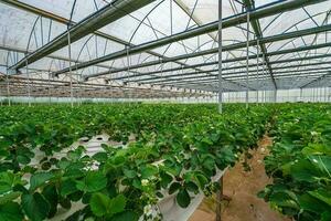
M 23 213 L 19 203 L 7 202 L 0 206 L 0 220 L 1 221 L 22 221 Z

